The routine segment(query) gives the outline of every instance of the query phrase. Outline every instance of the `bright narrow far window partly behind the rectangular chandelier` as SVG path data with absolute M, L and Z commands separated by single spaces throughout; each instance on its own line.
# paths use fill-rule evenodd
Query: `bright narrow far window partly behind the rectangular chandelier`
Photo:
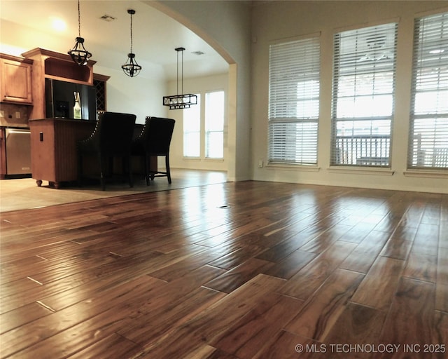
M 183 109 L 183 156 L 199 157 L 201 154 L 201 96 L 197 104 Z

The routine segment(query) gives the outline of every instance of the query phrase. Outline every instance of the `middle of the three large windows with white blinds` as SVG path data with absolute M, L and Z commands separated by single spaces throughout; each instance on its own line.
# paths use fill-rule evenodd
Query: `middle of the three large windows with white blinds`
M 389 167 L 396 23 L 334 36 L 332 165 Z

